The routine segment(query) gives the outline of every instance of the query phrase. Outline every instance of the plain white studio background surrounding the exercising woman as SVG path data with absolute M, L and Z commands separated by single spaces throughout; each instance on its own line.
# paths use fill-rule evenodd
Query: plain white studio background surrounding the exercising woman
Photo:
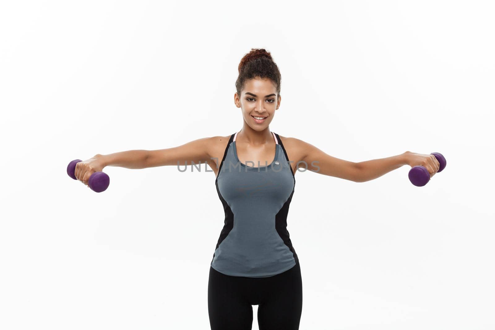
M 210 329 L 214 174 L 106 167 L 96 193 L 66 166 L 239 131 L 237 66 L 264 47 L 282 73 L 271 131 L 355 162 L 447 160 L 421 188 L 409 166 L 296 174 L 300 329 L 494 329 L 494 9 L 3 1 L 0 328 Z

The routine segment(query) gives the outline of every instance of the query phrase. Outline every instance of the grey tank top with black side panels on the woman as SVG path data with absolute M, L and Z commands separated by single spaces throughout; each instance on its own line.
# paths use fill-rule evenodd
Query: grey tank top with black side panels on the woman
M 280 137 L 272 135 L 276 149 L 270 164 L 239 161 L 237 133 L 225 148 L 215 180 L 225 221 L 211 261 L 222 274 L 270 277 L 299 262 L 287 231 L 296 179 Z

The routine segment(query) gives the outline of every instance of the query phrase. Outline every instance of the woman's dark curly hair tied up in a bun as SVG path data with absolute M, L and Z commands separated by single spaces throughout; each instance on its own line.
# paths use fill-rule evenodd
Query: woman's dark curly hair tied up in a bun
M 239 77 L 236 81 L 236 88 L 239 97 L 241 97 L 245 82 L 252 78 L 270 79 L 277 86 L 277 96 L 280 95 L 282 76 L 269 51 L 263 48 L 251 48 L 251 51 L 241 59 L 238 69 Z

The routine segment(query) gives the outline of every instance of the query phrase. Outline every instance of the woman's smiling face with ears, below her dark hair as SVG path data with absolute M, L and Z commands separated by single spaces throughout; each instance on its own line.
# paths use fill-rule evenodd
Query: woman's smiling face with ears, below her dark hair
M 234 102 L 242 109 L 244 121 L 255 131 L 262 131 L 273 120 L 275 110 L 280 106 L 281 97 L 277 97 L 277 89 L 270 79 L 249 79 L 241 96 L 234 94 Z M 254 117 L 263 117 L 258 120 Z

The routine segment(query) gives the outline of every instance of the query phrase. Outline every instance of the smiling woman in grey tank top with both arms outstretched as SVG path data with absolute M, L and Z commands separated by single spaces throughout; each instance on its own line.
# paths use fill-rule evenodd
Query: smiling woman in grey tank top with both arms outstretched
M 251 329 L 252 305 L 260 330 L 298 329 L 302 282 L 296 250 L 287 231 L 287 214 L 305 168 L 354 182 L 376 179 L 402 165 L 423 165 L 432 177 L 439 170 L 433 155 L 409 151 L 360 163 L 332 157 L 296 138 L 269 130 L 280 107 L 281 75 L 269 52 L 251 49 L 239 64 L 234 103 L 243 128 L 230 136 L 198 139 L 162 150 L 97 154 L 76 165 L 85 185 L 105 166 L 148 168 L 207 163 L 216 176 L 225 210 L 208 281 L 208 313 L 213 330 Z

